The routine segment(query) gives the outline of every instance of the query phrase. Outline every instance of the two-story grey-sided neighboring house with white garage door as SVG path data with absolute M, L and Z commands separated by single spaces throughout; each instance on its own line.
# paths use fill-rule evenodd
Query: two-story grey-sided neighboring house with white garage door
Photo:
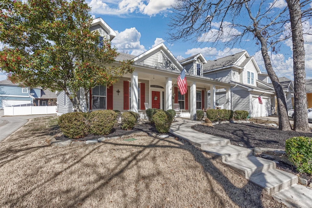
M 226 109 L 248 111 L 251 117 L 272 114 L 274 88 L 269 85 L 268 74 L 260 71 L 255 58 L 246 51 L 208 60 L 203 65 L 203 76 L 232 84 L 231 88 L 216 88 L 215 98 L 208 92 L 208 105 L 215 100 L 217 105 L 224 105 Z

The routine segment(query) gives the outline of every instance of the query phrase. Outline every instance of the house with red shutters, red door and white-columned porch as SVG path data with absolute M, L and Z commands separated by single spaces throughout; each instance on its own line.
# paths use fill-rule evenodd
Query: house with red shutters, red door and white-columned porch
M 102 32 L 101 35 L 110 37 L 110 40 L 114 38 L 115 32 L 101 18 L 94 19 L 90 30 L 95 28 Z M 202 67 L 206 63 L 202 54 L 180 63 L 163 43 L 139 56 L 120 53 L 115 64 L 118 65 L 119 61 L 123 60 L 134 61 L 134 72 L 120 77 L 119 82 L 109 88 L 97 86 L 91 89 L 91 111 L 134 111 L 139 112 L 143 118 L 144 103 L 149 103 L 151 108 L 163 110 L 173 109 L 173 103 L 179 103 L 182 116 L 193 119 L 197 109 L 207 108 L 207 91 L 213 92 L 211 89 L 233 86 L 229 82 L 202 76 Z M 200 68 L 197 67 L 197 63 Z M 191 72 L 186 73 L 188 91 L 185 95 L 181 95 L 175 82 L 184 69 L 182 64 L 188 66 L 187 71 Z M 81 100 L 84 99 L 81 97 Z M 58 115 L 73 111 L 72 104 L 64 92 L 57 92 L 57 106 Z M 214 108 L 214 102 L 209 107 Z

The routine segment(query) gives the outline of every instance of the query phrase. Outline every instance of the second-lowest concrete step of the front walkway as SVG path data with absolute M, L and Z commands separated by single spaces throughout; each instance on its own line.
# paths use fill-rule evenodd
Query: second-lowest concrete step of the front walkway
M 272 195 L 298 183 L 298 176 L 278 169 L 271 169 L 250 176 L 249 181 L 266 189 L 268 194 Z

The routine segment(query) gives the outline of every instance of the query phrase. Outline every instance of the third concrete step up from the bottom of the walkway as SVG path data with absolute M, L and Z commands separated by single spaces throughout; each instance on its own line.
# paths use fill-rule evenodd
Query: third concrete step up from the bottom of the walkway
M 223 163 L 247 179 L 257 173 L 276 168 L 275 162 L 256 156 L 238 158 L 236 160 L 224 161 Z

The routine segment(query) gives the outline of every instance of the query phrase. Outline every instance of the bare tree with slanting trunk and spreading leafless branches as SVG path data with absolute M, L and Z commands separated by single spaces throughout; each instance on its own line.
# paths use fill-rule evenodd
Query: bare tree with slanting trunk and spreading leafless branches
M 178 0 L 169 34 L 172 41 L 209 39 L 213 44 L 223 43 L 230 47 L 236 43 L 246 44 L 248 38 L 256 39 L 275 89 L 279 129 L 286 131 L 291 130 L 291 126 L 285 96 L 273 70 L 269 51 L 278 52 L 280 42 L 290 38 L 285 35 L 290 29 L 287 24 L 290 20 L 288 7 L 278 8 L 275 4 L 275 1 L 266 0 Z M 217 30 L 214 29 L 216 26 Z

